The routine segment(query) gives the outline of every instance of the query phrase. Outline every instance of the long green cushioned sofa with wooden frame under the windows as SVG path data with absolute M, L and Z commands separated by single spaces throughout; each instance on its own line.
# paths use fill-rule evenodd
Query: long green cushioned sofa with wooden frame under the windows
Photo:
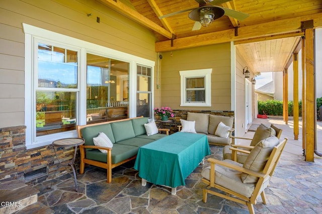
M 107 169 L 107 182 L 112 182 L 112 169 L 136 158 L 139 147 L 169 135 L 168 129 L 159 129 L 166 134 L 147 136 L 144 124 L 148 118 L 128 118 L 97 124 L 77 126 L 79 138 L 85 139 L 85 144 L 79 146 L 81 151 L 81 166 L 79 173 L 84 174 L 85 164 Z M 113 143 L 112 148 L 94 145 L 93 138 L 104 132 Z M 102 153 L 104 149 L 107 153 Z

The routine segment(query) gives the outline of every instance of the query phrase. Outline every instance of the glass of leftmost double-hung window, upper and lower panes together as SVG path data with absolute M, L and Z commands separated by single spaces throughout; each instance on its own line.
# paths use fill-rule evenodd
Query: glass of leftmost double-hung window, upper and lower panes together
M 75 130 L 77 51 L 38 42 L 36 136 Z

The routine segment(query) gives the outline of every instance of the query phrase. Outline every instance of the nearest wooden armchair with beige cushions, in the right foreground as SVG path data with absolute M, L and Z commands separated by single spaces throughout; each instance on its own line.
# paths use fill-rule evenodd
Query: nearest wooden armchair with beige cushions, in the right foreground
M 244 165 L 228 159 L 220 161 L 209 158 L 210 166 L 201 173 L 202 182 L 208 185 L 203 189 L 203 201 L 207 202 L 207 194 L 210 193 L 245 204 L 250 213 L 254 213 L 253 205 L 257 203 L 259 195 L 266 204 L 264 190 L 269 186 L 286 142 L 287 138 L 279 143 L 275 136 L 261 141 L 250 152 Z M 219 189 L 220 192 L 210 188 Z

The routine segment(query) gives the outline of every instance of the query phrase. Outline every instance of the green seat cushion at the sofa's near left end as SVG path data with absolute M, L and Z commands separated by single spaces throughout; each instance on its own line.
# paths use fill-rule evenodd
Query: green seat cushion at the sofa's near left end
M 114 144 L 112 149 L 112 164 L 119 163 L 137 155 L 138 150 L 139 147 Z M 86 151 L 86 158 L 107 163 L 107 153 L 102 153 L 98 149 Z

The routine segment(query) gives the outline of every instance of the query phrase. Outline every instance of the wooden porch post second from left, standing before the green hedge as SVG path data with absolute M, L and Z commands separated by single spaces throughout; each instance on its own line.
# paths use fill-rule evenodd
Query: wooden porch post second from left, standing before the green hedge
M 293 54 L 293 120 L 294 140 L 298 140 L 298 54 Z

